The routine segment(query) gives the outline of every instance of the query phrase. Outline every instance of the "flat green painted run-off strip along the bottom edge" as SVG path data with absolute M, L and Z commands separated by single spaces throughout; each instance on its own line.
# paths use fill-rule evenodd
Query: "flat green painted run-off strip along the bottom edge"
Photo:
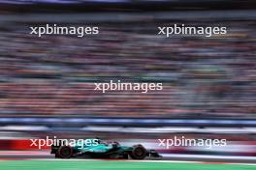
M 206 164 L 167 161 L 109 161 L 109 160 L 3 160 L 4 170 L 255 170 L 250 164 Z

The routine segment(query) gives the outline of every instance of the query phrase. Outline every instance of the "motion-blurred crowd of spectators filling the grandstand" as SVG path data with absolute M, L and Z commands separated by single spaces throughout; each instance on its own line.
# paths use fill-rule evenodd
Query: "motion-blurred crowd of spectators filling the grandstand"
M 174 23 L 221 24 L 228 34 L 157 35 Z M 10 23 L 9 23 L 10 24 Z M 255 118 L 256 24 L 139 20 L 97 23 L 100 34 L 29 35 L 0 28 L 0 116 Z M 94 91 L 95 82 L 162 82 L 163 90 Z

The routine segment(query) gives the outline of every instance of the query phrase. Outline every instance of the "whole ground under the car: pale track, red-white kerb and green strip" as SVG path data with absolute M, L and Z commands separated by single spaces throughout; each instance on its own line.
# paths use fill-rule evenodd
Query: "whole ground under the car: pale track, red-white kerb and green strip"
M 0 151 L 3 170 L 255 170 L 256 157 L 164 155 L 161 159 L 60 159 L 48 152 Z

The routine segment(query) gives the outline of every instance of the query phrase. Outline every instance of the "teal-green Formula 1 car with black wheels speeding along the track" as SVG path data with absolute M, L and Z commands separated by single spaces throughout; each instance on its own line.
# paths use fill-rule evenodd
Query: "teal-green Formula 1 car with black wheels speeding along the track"
M 154 150 L 146 150 L 143 145 L 122 146 L 118 142 L 108 143 L 100 139 L 84 139 L 70 144 L 51 146 L 50 154 L 59 158 L 92 157 L 92 158 L 133 158 L 144 159 L 146 156 L 161 157 Z

